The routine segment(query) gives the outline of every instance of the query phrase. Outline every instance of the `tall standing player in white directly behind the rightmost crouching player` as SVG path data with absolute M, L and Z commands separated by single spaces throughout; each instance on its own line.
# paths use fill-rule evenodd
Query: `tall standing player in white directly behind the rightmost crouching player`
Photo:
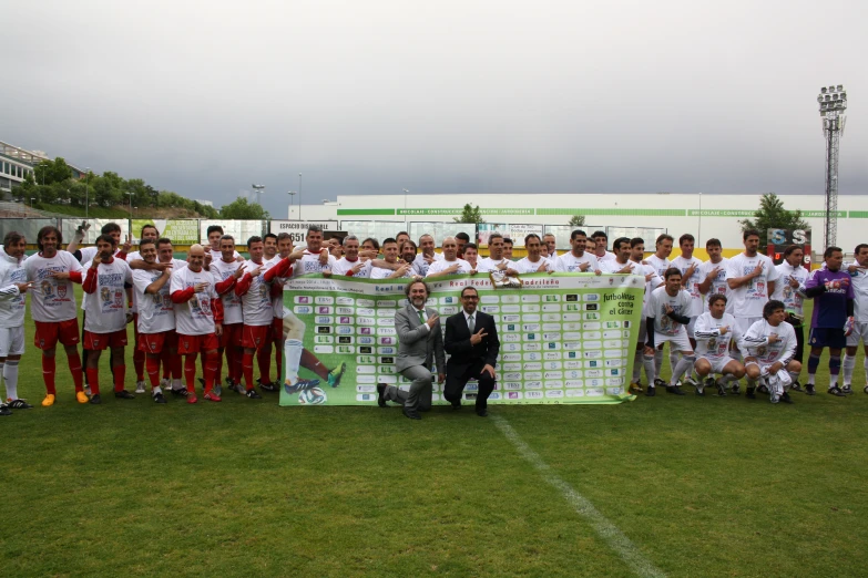
M 750 326 L 763 320 L 763 308 L 768 302 L 768 296 L 775 292 L 779 273 L 772 259 L 757 252 L 758 231 L 746 230 L 742 238 L 745 250 L 726 264 L 726 282 L 732 291 L 729 299 L 733 301 L 733 317 L 739 331 L 746 334 Z M 747 396 L 753 398 L 756 384 L 750 381 L 750 372 L 747 379 Z M 733 391 L 737 393 L 735 388 Z

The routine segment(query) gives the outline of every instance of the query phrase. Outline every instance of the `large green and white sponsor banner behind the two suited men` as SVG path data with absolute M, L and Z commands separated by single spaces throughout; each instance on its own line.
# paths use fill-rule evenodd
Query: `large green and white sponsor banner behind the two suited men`
M 439 311 L 441 326 L 460 312 L 459 296 L 467 286 L 479 291 L 479 309 L 494 316 L 500 357 L 498 383 L 489 401 L 619 403 L 629 399 L 644 278 L 533 273 L 522 276 L 522 281 L 518 289 L 494 289 L 483 276 L 428 282 L 428 305 Z M 410 382 L 395 370 L 395 312 L 407 305 L 406 283 L 319 275 L 289 281 L 284 290 L 285 333 L 304 336 L 299 375 L 320 383 L 302 393 L 282 388 L 280 405 L 376 405 L 378 383 L 409 389 Z M 337 384 L 321 376 L 344 363 Z M 467 402 L 472 402 L 476 391 L 470 382 Z M 448 403 L 436 382 L 433 400 Z

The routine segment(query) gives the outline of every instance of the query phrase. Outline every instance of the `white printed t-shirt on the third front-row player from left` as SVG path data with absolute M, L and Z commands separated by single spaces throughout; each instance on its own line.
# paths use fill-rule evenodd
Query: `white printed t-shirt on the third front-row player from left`
M 94 271 L 89 261 L 84 267 L 82 285 L 96 275 L 96 291 L 86 300 L 84 330 L 91 333 L 114 333 L 126 327 L 125 283 L 133 282 L 133 270 L 126 261 L 113 258 L 101 262 Z

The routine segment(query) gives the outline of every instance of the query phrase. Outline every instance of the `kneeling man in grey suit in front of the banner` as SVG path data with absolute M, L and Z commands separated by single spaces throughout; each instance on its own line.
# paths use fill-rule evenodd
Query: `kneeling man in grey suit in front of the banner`
M 398 331 L 398 358 L 395 369 L 412 381 L 410 391 L 401 391 L 395 385 L 377 384 L 377 403 L 386 407 L 386 402 L 404 404 L 404 415 L 410 420 L 421 420 L 419 412 L 431 409 L 431 361 L 437 363 L 438 383 L 446 380 L 446 355 L 443 336 L 437 311 L 426 308 L 430 290 L 425 281 L 412 281 L 405 289 L 410 301 L 395 313 L 395 329 Z

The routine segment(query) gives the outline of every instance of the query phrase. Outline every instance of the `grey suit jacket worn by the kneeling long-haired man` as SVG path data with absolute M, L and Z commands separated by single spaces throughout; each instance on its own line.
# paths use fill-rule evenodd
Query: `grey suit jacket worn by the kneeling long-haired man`
M 426 307 L 425 314 L 430 319 L 438 313 Z M 395 313 L 395 330 L 398 332 L 396 370 L 404 371 L 413 365 L 430 368 L 433 360 L 437 363 L 437 372 L 446 373 L 443 333 L 439 318 L 432 328 L 426 329 L 419 319 L 418 309 L 408 303 Z

